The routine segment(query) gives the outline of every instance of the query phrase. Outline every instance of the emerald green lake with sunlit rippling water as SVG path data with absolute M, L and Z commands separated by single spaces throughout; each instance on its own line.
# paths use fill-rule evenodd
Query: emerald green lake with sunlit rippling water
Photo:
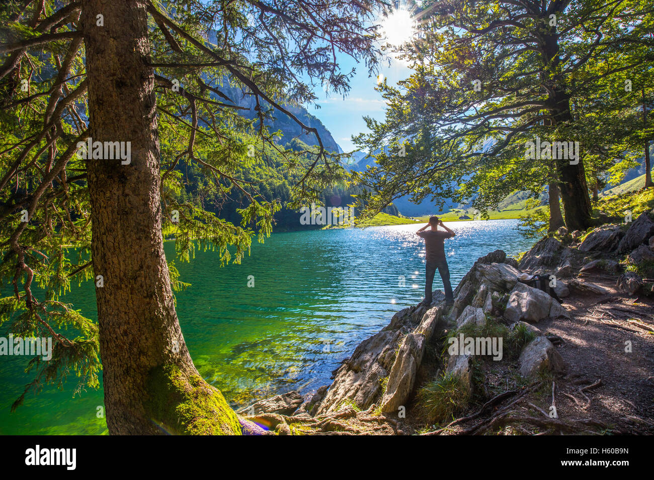
M 445 242 L 452 285 L 478 257 L 497 248 L 515 255 L 530 248 L 515 230 L 517 220 L 459 221 L 448 226 L 456 237 Z M 301 393 L 330 383 L 332 370 L 362 340 L 385 327 L 392 315 L 424 294 L 424 242 L 421 225 L 368 229 L 275 233 L 253 242 L 240 265 L 220 268 L 218 254 L 196 252 L 176 263 L 177 293 L 184 339 L 200 374 L 234 406 L 297 389 Z M 166 242 L 173 257 L 174 244 Z M 250 284 L 250 286 L 249 286 Z M 253 284 L 253 286 L 252 286 Z M 436 273 L 434 289 L 442 289 Z M 3 295 L 10 295 L 3 289 Z M 97 319 L 94 285 L 73 285 L 66 302 Z M 7 336 L 3 328 L 2 336 Z M 72 398 L 45 387 L 28 394 L 10 413 L 30 380 L 24 357 L 0 357 L 0 434 L 103 434 L 98 418 L 102 390 Z

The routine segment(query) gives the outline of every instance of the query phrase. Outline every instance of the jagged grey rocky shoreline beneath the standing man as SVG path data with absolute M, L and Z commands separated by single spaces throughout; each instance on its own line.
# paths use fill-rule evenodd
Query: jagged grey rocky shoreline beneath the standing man
M 560 338 L 543 333 L 536 325 L 544 319 L 571 321 L 570 312 L 553 296 L 525 282 L 545 275 L 560 298 L 608 295 L 610 288 L 588 280 L 593 272 L 601 272 L 615 281 L 619 295 L 651 295 L 653 217 L 654 211 L 644 212 L 632 223 L 602 225 L 587 234 L 562 228 L 537 242 L 519 261 L 502 250 L 493 251 L 479 258 L 462 278 L 453 306 L 446 307 L 443 294 L 435 291 L 432 305 L 400 310 L 387 327 L 343 360 L 331 385 L 304 396 L 292 391 L 260 400 L 238 412 L 241 423 L 251 434 L 405 433 L 407 408 L 421 395 L 417 391 L 426 380 L 452 383 L 466 401 L 481 394 L 475 389 L 486 389 L 475 381 L 475 372 L 481 368 L 475 345 L 469 345 L 470 351 L 454 353 L 444 345 L 455 343 L 452 339 L 458 337 L 489 338 L 490 348 L 489 332 L 503 332 L 497 336 L 504 340 L 507 352 L 489 365 L 517 378 L 522 389 L 530 383 L 542 384 L 545 377 L 549 381 L 565 376 L 566 362 L 556 345 Z M 625 265 L 628 271 L 623 272 Z M 552 380 L 553 403 L 554 389 Z M 421 411 L 424 408 L 414 408 L 413 416 Z M 558 422 L 562 428 L 556 413 L 548 416 L 549 427 L 556 428 Z M 425 423 L 429 419 L 426 415 Z M 574 424 L 570 425 L 574 431 Z M 601 429 L 601 425 L 598 421 L 577 427 Z

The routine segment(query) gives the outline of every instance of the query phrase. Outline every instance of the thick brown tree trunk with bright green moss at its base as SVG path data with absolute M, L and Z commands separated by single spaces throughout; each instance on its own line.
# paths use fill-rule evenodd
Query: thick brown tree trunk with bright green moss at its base
M 173 304 L 146 5 L 84 0 L 81 22 L 89 135 L 131 142 L 128 165 L 87 161 L 94 274 L 104 281 L 95 295 L 107 427 L 111 434 L 240 434 L 237 415 L 194 367 Z

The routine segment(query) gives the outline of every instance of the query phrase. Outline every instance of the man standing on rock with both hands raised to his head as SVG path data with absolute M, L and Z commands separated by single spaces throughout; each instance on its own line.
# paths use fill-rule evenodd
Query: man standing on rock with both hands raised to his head
M 444 232 L 438 230 L 438 226 L 445 229 Z M 428 227 L 432 227 L 430 231 L 426 231 Z M 452 293 L 452 285 L 449 281 L 449 268 L 447 260 L 445 259 L 445 238 L 452 238 L 456 235 L 451 231 L 437 216 L 429 217 L 429 223 L 422 227 L 419 231 L 415 232 L 418 236 L 424 238 L 424 247 L 426 249 L 425 255 L 425 274 L 424 281 L 424 305 L 429 306 L 432 303 L 432 283 L 434 283 L 434 274 L 436 268 L 443 280 L 443 288 L 445 289 L 445 304 L 451 305 L 454 303 L 454 295 Z

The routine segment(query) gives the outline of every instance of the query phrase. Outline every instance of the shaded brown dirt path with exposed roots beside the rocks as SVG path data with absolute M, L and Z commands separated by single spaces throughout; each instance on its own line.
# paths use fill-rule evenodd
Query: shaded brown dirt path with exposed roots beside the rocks
M 591 417 L 616 434 L 654 434 L 654 300 L 618 293 L 615 280 L 587 276 L 610 293 L 572 291 L 563 299 L 570 319 L 538 323 L 562 339 L 557 347 L 567 374 L 557 382 L 559 417 Z M 597 387 L 579 392 L 598 380 Z

